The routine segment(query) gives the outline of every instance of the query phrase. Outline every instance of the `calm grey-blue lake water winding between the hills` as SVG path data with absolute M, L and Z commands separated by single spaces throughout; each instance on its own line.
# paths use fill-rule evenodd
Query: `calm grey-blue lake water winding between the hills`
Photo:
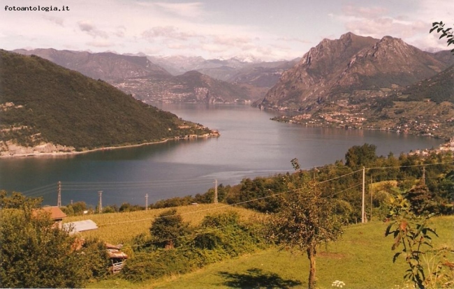
M 218 184 L 237 184 L 244 177 L 334 163 L 353 145 L 375 144 L 379 155 L 438 147 L 442 140 L 388 133 L 312 128 L 283 124 L 247 105 L 156 104 L 183 119 L 220 131 L 220 138 L 169 141 L 143 147 L 96 151 L 75 156 L 0 159 L 0 188 L 42 195 L 57 205 L 57 182 L 66 205 L 85 201 L 103 206 L 122 202 L 145 205 L 176 196 L 205 193 Z

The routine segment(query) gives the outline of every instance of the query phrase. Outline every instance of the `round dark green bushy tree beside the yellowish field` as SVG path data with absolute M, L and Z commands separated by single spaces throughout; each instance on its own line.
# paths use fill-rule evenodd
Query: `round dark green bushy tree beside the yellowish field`
M 183 222 L 177 209 L 169 209 L 152 222 L 149 232 L 157 246 L 173 248 L 180 245 L 180 237 L 189 233 L 189 223 Z

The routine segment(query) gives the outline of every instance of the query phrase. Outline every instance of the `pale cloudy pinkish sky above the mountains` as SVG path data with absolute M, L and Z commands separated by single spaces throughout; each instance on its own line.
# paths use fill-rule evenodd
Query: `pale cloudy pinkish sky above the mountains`
M 275 61 L 346 32 L 448 50 L 432 22 L 454 27 L 450 0 L 0 0 L 0 48 Z M 57 8 L 59 10 L 17 10 Z M 65 8 L 63 10 L 63 7 Z M 14 10 L 15 9 L 15 10 Z M 445 38 L 446 39 L 446 38 Z

